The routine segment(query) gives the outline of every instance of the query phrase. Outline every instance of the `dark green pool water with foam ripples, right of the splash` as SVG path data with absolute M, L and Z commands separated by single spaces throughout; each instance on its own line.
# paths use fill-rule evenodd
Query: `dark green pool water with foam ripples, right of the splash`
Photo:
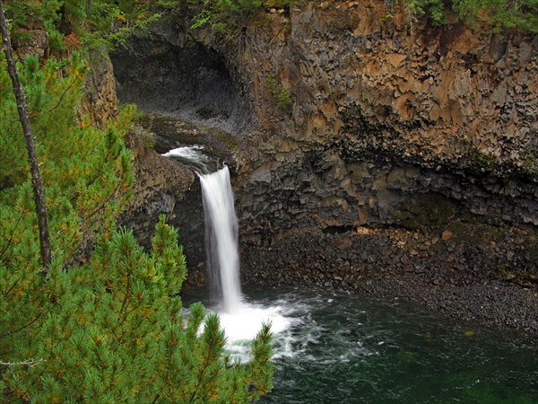
M 275 336 L 261 403 L 538 403 L 538 342 L 416 306 L 294 290 L 247 291 L 291 326 Z

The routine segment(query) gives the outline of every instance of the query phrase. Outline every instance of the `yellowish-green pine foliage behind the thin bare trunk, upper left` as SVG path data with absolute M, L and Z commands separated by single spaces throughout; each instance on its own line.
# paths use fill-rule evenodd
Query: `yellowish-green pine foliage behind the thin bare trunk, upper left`
M 76 124 L 85 64 L 36 57 L 19 64 L 46 189 L 57 266 L 82 259 L 95 233 L 113 229 L 132 182 L 130 154 L 121 136 L 129 111 L 106 131 Z M 31 343 L 44 319 L 48 294 L 39 275 L 37 215 L 17 106 L 0 57 L 0 358 Z M 25 330 L 24 335 L 17 330 Z M 18 344 L 13 347 L 13 339 Z M 14 349 L 14 351 L 13 351 Z M 13 354 L 13 352 L 14 354 Z

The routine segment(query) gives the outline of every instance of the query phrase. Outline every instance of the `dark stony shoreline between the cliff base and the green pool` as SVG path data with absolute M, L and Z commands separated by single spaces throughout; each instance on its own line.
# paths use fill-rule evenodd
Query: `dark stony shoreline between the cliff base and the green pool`
M 508 258 L 514 260 L 509 250 L 516 242 L 483 251 L 448 233 L 431 237 L 402 229 L 312 231 L 286 237 L 271 248 L 244 248 L 242 277 L 252 285 L 306 285 L 399 299 L 449 318 L 518 329 L 535 338 L 534 276 L 525 272 L 523 279 L 522 272 L 499 269 Z

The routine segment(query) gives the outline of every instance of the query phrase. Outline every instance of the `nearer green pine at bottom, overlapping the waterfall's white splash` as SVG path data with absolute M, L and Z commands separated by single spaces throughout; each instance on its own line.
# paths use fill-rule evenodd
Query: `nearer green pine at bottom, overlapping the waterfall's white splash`
M 152 254 L 128 231 L 100 244 L 89 264 L 55 268 L 43 320 L 22 357 L 4 375 L 8 400 L 32 402 L 247 402 L 271 389 L 271 333 L 260 331 L 252 361 L 230 363 L 215 314 L 192 306 L 181 314 L 186 275 L 177 232 L 161 217 Z M 202 329 L 201 335 L 200 331 Z M 249 389 L 251 383 L 256 389 Z

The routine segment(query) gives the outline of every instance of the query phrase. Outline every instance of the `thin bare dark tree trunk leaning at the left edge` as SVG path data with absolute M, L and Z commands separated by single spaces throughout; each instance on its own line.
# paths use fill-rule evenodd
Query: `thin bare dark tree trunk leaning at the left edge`
M 36 146 L 34 138 L 31 134 L 30 119 L 28 118 L 28 110 L 26 109 L 26 101 L 24 101 L 24 93 L 22 92 L 22 84 L 19 79 L 19 72 L 13 59 L 11 43 L 9 40 L 9 31 L 4 15 L 4 4 L 0 0 L 0 33 L 2 33 L 2 48 L 7 59 L 7 69 L 13 83 L 13 92 L 17 100 L 17 110 L 19 111 L 19 119 L 21 119 L 22 132 L 26 140 L 26 148 L 28 151 L 28 161 L 30 162 L 31 186 L 34 192 L 34 202 L 36 204 L 36 212 L 38 214 L 39 224 L 39 243 L 41 247 L 41 259 L 43 259 L 43 272 L 48 277 L 50 270 L 50 261 L 52 254 L 50 252 L 50 238 L 48 235 L 47 224 L 47 206 L 45 204 L 45 194 L 43 192 L 43 184 L 41 182 L 41 174 L 39 172 L 39 162 L 36 154 Z

